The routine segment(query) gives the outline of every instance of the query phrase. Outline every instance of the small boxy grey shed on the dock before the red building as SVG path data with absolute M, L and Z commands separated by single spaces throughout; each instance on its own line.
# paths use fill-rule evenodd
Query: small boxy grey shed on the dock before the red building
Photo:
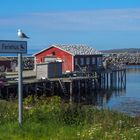
M 44 62 L 36 64 L 37 79 L 62 77 L 62 62 Z

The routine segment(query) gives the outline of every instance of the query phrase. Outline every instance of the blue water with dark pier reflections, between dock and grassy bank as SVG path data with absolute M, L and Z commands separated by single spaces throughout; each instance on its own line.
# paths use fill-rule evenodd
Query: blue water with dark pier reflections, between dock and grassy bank
M 80 93 L 80 96 L 75 97 L 75 101 L 138 116 L 140 115 L 140 66 L 128 66 L 126 83 Z

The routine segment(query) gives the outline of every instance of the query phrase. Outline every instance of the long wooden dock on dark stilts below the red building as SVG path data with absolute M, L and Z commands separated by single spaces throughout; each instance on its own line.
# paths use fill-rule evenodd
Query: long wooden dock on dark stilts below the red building
M 26 73 L 26 74 L 25 74 Z M 73 102 L 73 96 L 77 99 L 82 94 L 90 94 L 95 90 L 106 89 L 125 89 L 126 88 L 126 69 L 117 70 L 101 70 L 96 71 L 92 76 L 78 76 L 78 77 L 61 77 L 49 78 L 45 80 L 37 80 L 35 72 L 25 72 L 23 74 L 23 97 L 31 94 L 40 95 L 58 95 L 67 98 Z M 18 79 L 16 74 L 8 73 L 8 80 L 0 87 L 0 97 L 9 99 L 17 97 Z M 11 78 L 11 79 L 10 79 Z

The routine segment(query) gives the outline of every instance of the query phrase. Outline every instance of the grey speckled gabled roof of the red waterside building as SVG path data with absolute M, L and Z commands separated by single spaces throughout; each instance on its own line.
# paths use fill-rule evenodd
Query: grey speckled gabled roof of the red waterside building
M 41 50 L 40 52 L 34 54 L 37 55 L 43 51 L 50 49 L 51 47 L 56 47 L 60 50 L 66 51 L 67 53 L 75 56 L 75 55 L 93 55 L 93 54 L 101 54 L 101 52 L 97 51 L 94 48 L 91 48 L 87 45 L 51 45 L 50 47 Z

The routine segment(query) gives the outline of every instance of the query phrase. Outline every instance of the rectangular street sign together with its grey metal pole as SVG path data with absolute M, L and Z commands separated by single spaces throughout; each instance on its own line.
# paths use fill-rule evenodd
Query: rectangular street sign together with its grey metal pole
M 27 53 L 27 41 L 0 40 L 0 53 L 18 54 L 18 122 L 22 125 L 23 86 L 22 86 L 22 53 Z

